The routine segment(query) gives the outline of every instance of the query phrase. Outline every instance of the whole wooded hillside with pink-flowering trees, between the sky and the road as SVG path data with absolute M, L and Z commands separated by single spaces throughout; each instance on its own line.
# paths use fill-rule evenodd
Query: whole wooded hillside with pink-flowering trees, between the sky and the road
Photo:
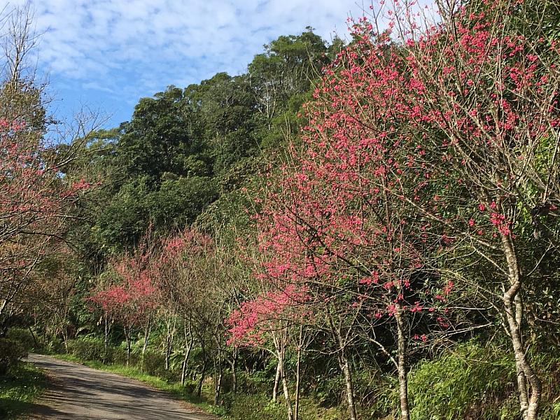
M 0 418 L 44 353 L 230 420 L 560 419 L 560 3 L 437 3 L 111 129 L 62 130 L 7 15 Z

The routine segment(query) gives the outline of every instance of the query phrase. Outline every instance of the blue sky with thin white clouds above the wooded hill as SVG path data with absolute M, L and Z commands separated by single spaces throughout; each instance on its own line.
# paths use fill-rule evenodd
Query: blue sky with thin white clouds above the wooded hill
M 8 8 L 25 0 L 0 0 Z M 308 25 L 326 40 L 346 36 L 355 0 L 36 0 L 38 70 L 55 115 L 83 106 L 130 120 L 139 98 L 185 87 L 218 71 L 243 73 L 262 45 Z

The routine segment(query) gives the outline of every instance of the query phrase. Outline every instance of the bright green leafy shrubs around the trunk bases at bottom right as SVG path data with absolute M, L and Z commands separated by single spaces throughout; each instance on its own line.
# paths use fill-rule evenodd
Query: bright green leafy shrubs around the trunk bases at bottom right
M 542 379 L 539 419 L 560 419 L 560 358 L 555 351 L 529 355 Z M 363 370 L 355 374 L 357 395 L 364 395 Z M 368 388 L 364 419 L 399 416 L 398 380 L 379 377 Z M 421 360 L 409 374 L 412 420 L 520 420 L 515 364 L 507 344 L 484 346 L 471 341 Z

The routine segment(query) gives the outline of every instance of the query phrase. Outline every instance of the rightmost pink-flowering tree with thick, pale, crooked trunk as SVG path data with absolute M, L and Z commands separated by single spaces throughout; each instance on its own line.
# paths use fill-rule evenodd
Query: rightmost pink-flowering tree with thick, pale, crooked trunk
M 390 214 L 409 207 L 425 230 L 421 242 L 442 244 L 443 252 L 428 255 L 441 258 L 439 271 L 454 281 L 468 284 L 470 264 L 488 267 L 470 271 L 469 281 L 486 299 L 499 297 L 520 413 L 534 420 L 541 381 L 528 356 L 524 302 L 540 283 L 539 267 L 558 251 L 559 54 L 554 41 L 519 26 L 530 2 L 482 3 L 483 11 L 455 10 L 424 33 L 407 3 L 390 3 L 399 44 L 386 34 L 372 38 L 367 20 L 356 25 L 342 69 L 328 72 L 323 101 L 311 108 L 327 123 L 311 127 L 323 142 L 346 145 L 335 158 L 360 170 L 338 178 L 359 180 L 353 191 L 375 186 L 362 172 L 370 151 L 398 152 L 374 169 L 393 180 L 374 187 L 391 197 L 380 197 Z M 403 215 L 402 226 L 407 221 Z M 407 258 L 408 246 L 397 248 L 395 256 Z

